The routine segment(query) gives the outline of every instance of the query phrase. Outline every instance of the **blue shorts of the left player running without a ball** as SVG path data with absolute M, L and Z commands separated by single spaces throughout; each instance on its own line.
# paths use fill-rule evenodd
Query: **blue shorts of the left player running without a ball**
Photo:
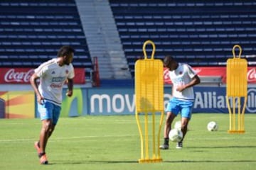
M 60 106 L 46 100 L 43 102 L 43 104 L 38 104 L 38 113 L 40 114 L 41 120 L 50 119 L 53 121 L 53 125 L 56 125 L 58 122 L 60 110 Z

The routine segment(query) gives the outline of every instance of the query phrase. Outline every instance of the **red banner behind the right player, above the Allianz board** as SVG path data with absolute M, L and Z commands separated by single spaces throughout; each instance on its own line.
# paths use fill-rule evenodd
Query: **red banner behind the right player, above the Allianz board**
M 220 76 L 223 83 L 226 81 L 226 67 L 193 67 L 198 76 Z M 248 67 L 247 81 L 250 84 L 256 84 L 256 67 Z M 168 69 L 164 68 L 164 84 L 171 84 Z

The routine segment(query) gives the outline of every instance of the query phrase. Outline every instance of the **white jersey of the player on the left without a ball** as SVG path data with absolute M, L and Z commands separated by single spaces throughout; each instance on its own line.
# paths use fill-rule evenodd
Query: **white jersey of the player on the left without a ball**
M 75 77 L 74 67 L 70 63 L 62 67 L 58 64 L 58 59 L 48 60 L 37 69 L 35 73 L 40 77 L 38 90 L 47 101 L 61 105 L 63 85 L 67 79 Z

